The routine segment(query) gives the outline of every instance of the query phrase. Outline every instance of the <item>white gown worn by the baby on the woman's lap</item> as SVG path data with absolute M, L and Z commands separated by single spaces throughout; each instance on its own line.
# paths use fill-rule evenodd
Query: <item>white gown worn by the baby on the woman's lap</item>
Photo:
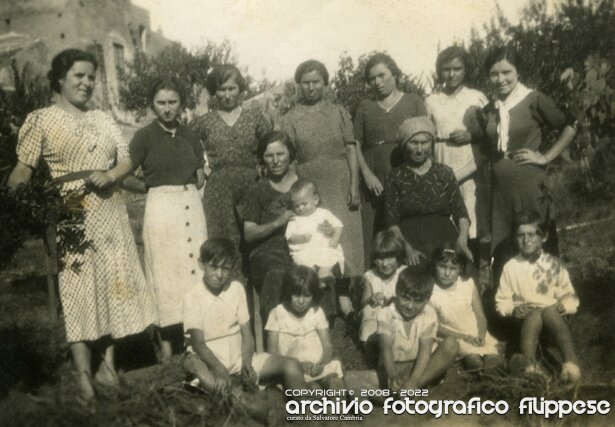
M 286 226 L 286 239 L 293 235 L 309 234 L 310 240 L 305 243 L 288 243 L 290 255 L 296 264 L 306 267 L 333 267 L 339 264 L 344 272 L 344 252 L 338 244 L 335 248 L 329 246 L 329 237 L 320 231 L 318 226 L 327 221 L 333 228 L 343 227 L 342 222 L 330 211 L 323 208 L 316 210 L 308 216 L 294 216 Z

